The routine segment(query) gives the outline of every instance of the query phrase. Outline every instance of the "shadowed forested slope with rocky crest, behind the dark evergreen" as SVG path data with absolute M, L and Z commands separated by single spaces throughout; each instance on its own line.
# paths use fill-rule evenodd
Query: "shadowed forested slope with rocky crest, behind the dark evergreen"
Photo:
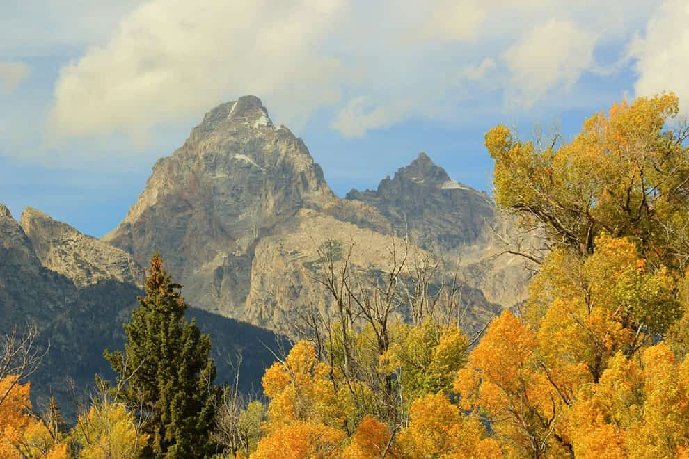
M 49 349 L 31 377 L 35 403 L 53 394 L 70 416 L 77 393 L 93 384 L 96 373 L 112 378 L 104 349 L 122 348 L 122 324 L 129 321 L 143 291 L 143 271 L 131 256 L 79 233 L 35 209 L 26 209 L 21 225 L 0 204 L 0 334 L 38 325 L 43 350 Z M 269 330 L 191 307 L 212 339 L 218 383 L 232 380 L 229 360 L 243 356 L 241 389 L 260 389 L 260 378 L 273 355 L 267 346 L 283 342 Z

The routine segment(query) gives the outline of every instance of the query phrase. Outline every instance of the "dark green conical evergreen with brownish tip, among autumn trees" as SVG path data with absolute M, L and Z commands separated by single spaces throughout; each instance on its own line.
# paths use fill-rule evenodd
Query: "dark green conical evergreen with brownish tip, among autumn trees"
M 198 458 L 211 451 L 215 364 L 208 335 L 187 322 L 179 284 L 156 252 L 145 297 L 125 325 L 125 352 L 105 357 L 118 373 L 118 396 L 133 408 L 150 435 L 144 456 Z

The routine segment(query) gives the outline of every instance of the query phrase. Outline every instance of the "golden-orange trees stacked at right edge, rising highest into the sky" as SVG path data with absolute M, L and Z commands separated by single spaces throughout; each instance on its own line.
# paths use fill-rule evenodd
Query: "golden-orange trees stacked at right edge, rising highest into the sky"
M 689 342 L 689 130 L 672 128 L 678 112 L 663 94 L 594 115 L 571 143 L 486 134 L 498 206 L 545 249 L 523 254 L 539 272 L 521 314 L 491 324 L 455 383 L 508 453 L 667 456 L 689 441 L 673 402 L 683 364 L 653 346 L 670 335 L 683 358 Z M 665 385 L 674 395 L 656 403 Z

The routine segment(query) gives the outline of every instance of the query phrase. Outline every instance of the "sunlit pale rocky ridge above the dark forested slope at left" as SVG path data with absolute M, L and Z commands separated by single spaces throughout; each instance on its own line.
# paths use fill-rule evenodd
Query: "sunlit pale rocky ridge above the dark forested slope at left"
M 70 278 L 79 288 L 102 280 L 143 285 L 143 269 L 124 250 L 81 234 L 31 207 L 24 209 L 20 225 L 42 266 Z

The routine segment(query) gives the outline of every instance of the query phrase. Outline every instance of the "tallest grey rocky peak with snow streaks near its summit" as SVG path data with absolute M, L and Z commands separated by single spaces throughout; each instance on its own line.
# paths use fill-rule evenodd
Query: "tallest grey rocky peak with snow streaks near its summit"
M 144 266 L 159 250 L 189 298 L 238 316 L 256 241 L 332 198 L 303 141 L 246 96 L 207 113 L 180 149 L 157 161 L 125 220 L 103 239 Z

